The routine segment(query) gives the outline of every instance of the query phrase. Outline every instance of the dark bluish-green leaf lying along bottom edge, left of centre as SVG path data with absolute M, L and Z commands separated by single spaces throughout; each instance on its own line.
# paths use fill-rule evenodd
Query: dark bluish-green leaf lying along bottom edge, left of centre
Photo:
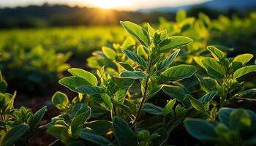
M 112 145 L 110 140 L 106 139 L 105 137 L 99 136 L 97 134 L 91 134 L 87 131 L 81 131 L 79 136 L 82 139 L 85 139 L 89 142 L 93 142 L 97 145 L 102 145 L 102 146 Z

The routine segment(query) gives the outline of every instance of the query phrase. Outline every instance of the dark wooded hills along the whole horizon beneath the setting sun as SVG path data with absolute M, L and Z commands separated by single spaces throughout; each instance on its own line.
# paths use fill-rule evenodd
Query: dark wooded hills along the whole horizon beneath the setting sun
M 120 20 L 130 20 L 135 23 L 158 23 L 159 17 L 167 20 L 175 20 L 176 11 L 178 9 L 187 9 L 189 16 L 197 16 L 198 12 L 205 12 L 210 18 L 217 18 L 219 14 L 227 16 L 233 13 L 239 16 L 248 15 L 251 10 L 241 11 L 240 5 L 243 7 L 251 7 L 253 4 L 250 0 L 243 0 L 233 6 L 239 9 L 227 10 L 227 1 L 223 0 L 208 1 L 200 5 L 187 5 L 182 7 L 164 7 L 156 9 L 140 9 L 140 11 L 120 11 L 120 10 L 102 10 L 88 7 L 69 7 L 67 5 L 49 5 L 28 6 L 15 8 L 0 9 L 0 28 L 30 28 L 30 27 L 49 27 L 49 26 L 95 26 L 95 25 L 117 25 Z M 240 1 L 240 0 L 239 0 Z M 248 1 L 248 2 L 246 2 Z M 255 0 L 256 1 L 256 0 Z M 252 2 L 252 1 L 250 1 Z M 200 7 L 199 7 L 200 6 Z M 219 7 L 218 9 L 210 9 L 208 6 Z

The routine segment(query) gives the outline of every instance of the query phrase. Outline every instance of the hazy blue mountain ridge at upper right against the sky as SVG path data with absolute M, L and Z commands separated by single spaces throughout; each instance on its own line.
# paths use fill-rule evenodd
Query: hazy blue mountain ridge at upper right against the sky
M 210 0 L 200 4 L 188 4 L 180 7 L 155 7 L 151 9 L 138 9 L 138 12 L 176 12 L 178 9 L 192 9 L 193 7 L 207 7 L 218 11 L 227 9 L 253 9 L 256 7 L 256 0 Z

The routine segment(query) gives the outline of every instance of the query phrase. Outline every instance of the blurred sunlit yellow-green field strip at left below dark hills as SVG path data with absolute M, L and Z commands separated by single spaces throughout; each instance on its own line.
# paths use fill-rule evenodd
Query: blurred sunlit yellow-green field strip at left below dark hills
M 87 53 L 106 42 L 121 42 L 124 30 L 119 26 L 78 26 L 57 28 L 7 29 L 0 31 L 1 50 L 15 47 L 29 51 L 37 46 L 57 52 Z

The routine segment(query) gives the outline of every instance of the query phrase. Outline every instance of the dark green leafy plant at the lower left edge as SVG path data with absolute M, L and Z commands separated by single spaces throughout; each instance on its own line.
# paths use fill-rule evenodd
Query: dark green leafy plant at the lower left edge
M 0 72 L 0 145 L 29 145 L 28 139 L 45 115 L 46 106 L 35 114 L 26 107 L 15 109 L 13 104 L 16 92 L 13 95 L 5 93 L 6 89 L 7 82 Z

